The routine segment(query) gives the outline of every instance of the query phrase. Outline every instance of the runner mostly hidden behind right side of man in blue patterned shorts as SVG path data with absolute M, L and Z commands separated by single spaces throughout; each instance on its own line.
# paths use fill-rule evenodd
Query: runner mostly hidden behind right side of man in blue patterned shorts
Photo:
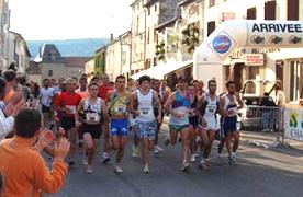
M 154 113 L 155 113 L 155 117 L 158 117 L 159 115 L 161 115 L 161 121 L 157 123 L 156 136 L 155 136 L 155 140 L 154 140 L 154 153 L 156 155 L 158 155 L 160 151 L 164 151 L 164 149 L 158 144 L 159 132 L 160 132 L 160 128 L 161 128 L 162 119 L 164 119 L 164 109 L 162 109 L 164 94 L 160 90 L 160 86 L 161 86 L 161 82 L 157 79 L 154 79 L 153 80 L 153 90 L 157 92 L 157 96 L 160 101 L 160 105 L 154 105 Z

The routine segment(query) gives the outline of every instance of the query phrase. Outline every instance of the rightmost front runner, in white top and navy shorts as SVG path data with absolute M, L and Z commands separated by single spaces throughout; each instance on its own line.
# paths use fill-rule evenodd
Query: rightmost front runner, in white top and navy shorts
M 239 146 L 239 131 L 237 130 L 237 109 L 243 107 L 243 101 L 236 93 L 235 82 L 226 83 L 228 93 L 220 99 L 220 108 L 222 115 L 222 127 L 226 137 L 226 148 L 228 151 L 229 164 L 236 161 L 236 151 Z M 233 149 L 232 149 L 233 139 Z

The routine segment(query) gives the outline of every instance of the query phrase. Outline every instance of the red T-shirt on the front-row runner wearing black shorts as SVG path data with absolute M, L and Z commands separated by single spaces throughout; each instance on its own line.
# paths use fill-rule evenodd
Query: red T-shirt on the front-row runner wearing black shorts
M 64 113 L 64 116 L 74 117 L 77 113 L 77 106 L 81 101 L 81 96 L 77 93 L 63 92 L 60 93 L 54 103 L 54 106 L 69 108 L 71 113 Z

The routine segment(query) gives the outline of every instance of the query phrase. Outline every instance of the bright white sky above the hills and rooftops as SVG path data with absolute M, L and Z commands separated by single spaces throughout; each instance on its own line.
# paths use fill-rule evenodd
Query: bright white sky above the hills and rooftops
M 114 37 L 131 30 L 134 0 L 9 0 L 11 31 L 26 40 Z

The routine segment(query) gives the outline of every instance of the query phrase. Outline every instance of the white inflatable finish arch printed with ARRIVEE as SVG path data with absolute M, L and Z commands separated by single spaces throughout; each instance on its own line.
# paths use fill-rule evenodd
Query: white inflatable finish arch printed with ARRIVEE
M 303 21 L 225 21 L 195 49 L 193 78 L 215 78 L 223 91 L 222 63 L 243 47 L 303 48 Z

